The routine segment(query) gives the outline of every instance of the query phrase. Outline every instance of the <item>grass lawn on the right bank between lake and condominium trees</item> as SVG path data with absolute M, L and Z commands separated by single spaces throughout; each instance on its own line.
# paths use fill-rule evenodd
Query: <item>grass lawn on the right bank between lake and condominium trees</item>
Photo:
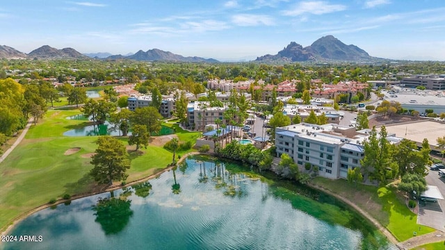
M 405 206 L 405 203 L 392 187 L 378 188 L 367 185 L 351 185 L 346 180 L 329 180 L 314 178 L 314 184 L 323 186 L 341 197 L 353 201 L 360 208 L 366 210 L 385 226 L 399 241 L 405 241 L 417 235 L 435 231 L 428 226 L 417 224 L 417 215 Z M 419 230 L 420 228 L 420 230 Z

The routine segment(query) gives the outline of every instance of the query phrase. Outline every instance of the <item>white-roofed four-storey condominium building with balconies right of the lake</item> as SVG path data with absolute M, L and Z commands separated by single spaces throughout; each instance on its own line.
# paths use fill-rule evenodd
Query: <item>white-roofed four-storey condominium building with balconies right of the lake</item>
M 360 166 L 369 129 L 355 131 L 337 124 L 294 124 L 276 128 L 277 157 L 287 153 L 300 166 L 318 167 L 325 178 L 346 178 L 348 169 Z

